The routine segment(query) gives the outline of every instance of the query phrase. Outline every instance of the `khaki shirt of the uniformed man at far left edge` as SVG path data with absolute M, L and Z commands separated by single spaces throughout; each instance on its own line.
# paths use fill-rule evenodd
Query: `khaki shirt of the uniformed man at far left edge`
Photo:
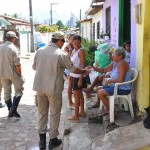
M 16 66 L 20 65 L 17 47 L 10 41 L 0 45 L 0 77 L 19 77 Z

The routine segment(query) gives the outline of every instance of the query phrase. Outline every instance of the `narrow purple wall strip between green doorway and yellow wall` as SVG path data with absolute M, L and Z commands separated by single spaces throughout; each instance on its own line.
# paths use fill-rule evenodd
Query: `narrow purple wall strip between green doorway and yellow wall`
M 131 0 L 131 66 L 136 66 L 136 22 L 133 16 L 133 9 L 137 0 Z

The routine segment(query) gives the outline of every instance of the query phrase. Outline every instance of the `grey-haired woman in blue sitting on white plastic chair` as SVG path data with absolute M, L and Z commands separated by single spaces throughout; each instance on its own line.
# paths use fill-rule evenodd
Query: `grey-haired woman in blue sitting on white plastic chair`
M 107 96 L 114 94 L 114 85 L 115 83 L 120 83 L 124 81 L 129 81 L 132 78 L 131 69 L 128 62 L 124 59 L 126 57 L 126 52 L 123 47 L 118 47 L 115 49 L 113 53 L 113 62 L 105 68 L 96 68 L 93 69 L 97 72 L 105 73 L 111 71 L 110 79 L 106 82 L 104 86 L 100 86 L 97 88 L 97 96 L 98 101 L 97 104 L 100 103 L 100 100 L 103 101 L 106 110 L 99 114 L 99 116 L 104 116 L 109 113 L 109 100 Z M 124 95 L 129 94 L 131 90 L 130 84 L 125 84 L 119 86 L 118 94 Z

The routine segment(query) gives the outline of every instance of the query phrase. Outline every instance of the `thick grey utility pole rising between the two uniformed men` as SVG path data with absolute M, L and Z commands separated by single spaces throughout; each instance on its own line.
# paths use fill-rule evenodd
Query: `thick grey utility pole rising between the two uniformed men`
M 33 37 L 33 15 L 32 15 L 32 0 L 29 0 L 29 11 L 30 11 L 30 51 L 34 52 L 34 37 Z

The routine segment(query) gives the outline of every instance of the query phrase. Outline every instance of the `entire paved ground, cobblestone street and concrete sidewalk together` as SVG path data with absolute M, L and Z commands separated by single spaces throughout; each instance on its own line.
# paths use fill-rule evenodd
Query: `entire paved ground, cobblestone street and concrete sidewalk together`
M 35 106 L 32 84 L 33 55 L 29 59 L 21 59 L 25 77 L 25 90 L 18 112 L 20 119 L 7 118 L 7 108 L 0 109 L 0 150 L 38 150 L 37 121 L 38 112 Z M 80 117 L 78 122 L 68 120 L 74 110 L 69 109 L 67 101 L 67 80 L 63 91 L 63 109 L 61 113 L 60 135 L 63 144 L 55 150 L 149 150 L 150 130 L 145 129 L 142 121 L 133 123 L 129 112 L 121 111 L 116 124 L 120 127 L 108 132 L 105 122 L 89 123 L 88 116 L 97 114 L 99 109 L 87 109 L 87 116 Z M 96 97 L 85 100 L 85 106 L 96 101 Z M 132 124 L 132 125 L 129 125 Z M 64 134 L 65 132 L 65 134 Z M 108 133 L 107 133 L 108 132 Z M 48 144 L 48 134 L 47 134 Z

